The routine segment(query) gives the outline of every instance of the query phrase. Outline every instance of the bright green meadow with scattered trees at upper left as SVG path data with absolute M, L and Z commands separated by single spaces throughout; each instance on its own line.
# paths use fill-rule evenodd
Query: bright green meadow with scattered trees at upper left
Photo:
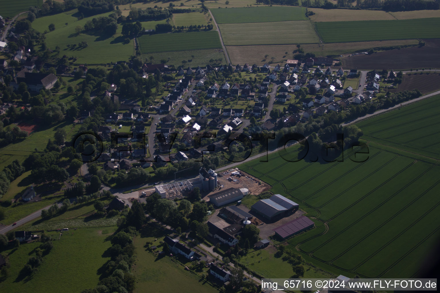
M 128 60 L 134 54 L 133 41 L 130 40 L 129 43 L 124 43 L 125 37 L 121 36 L 122 25 L 118 26 L 114 36 L 93 36 L 85 33 L 77 35 L 75 33 L 75 28 L 78 25 L 84 26 L 92 18 L 108 16 L 110 13 L 98 14 L 78 20 L 75 12 L 76 10 L 72 10 L 37 18 L 32 22 L 32 27 L 43 33 L 45 30 L 48 30 L 50 23 L 55 24 L 55 30 L 45 35 L 45 42 L 48 48 L 55 50 L 55 47 L 59 46 L 61 49 L 60 55 L 66 54 L 78 58 L 76 64 L 106 64 Z M 88 43 L 88 47 L 83 47 L 82 49 L 67 47 L 67 45 L 83 41 Z

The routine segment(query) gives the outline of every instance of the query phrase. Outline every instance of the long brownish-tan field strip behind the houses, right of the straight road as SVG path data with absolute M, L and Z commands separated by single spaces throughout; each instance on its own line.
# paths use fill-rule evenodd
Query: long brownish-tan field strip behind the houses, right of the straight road
M 407 46 L 417 45 L 418 40 L 389 40 L 375 42 L 356 42 L 356 43 L 326 43 L 323 46 L 319 44 L 301 44 L 304 52 L 310 52 L 317 56 L 340 55 L 354 53 L 356 51 L 367 51 L 374 47 L 387 46 Z M 263 65 L 266 61 L 274 57 L 274 62 L 286 61 L 293 59 L 293 51 L 296 50 L 296 44 L 291 45 L 260 45 L 260 46 L 227 46 L 226 50 L 231 58 L 232 64 L 258 64 Z M 287 54 L 286 54 L 287 52 Z M 264 60 L 264 56 L 268 54 L 269 59 Z

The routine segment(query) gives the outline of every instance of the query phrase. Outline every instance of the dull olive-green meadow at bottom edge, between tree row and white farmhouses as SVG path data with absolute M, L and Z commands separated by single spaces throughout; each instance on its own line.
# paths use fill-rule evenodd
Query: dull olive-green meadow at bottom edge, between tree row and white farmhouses
M 167 283 L 172 280 L 173 284 L 179 284 L 179 292 L 186 293 L 210 293 L 218 292 L 213 286 L 200 279 L 193 272 L 186 271 L 178 261 L 165 256 L 155 257 L 153 253 L 145 250 L 145 242 L 153 241 L 153 245 L 159 246 L 163 240 L 164 232 L 158 232 L 152 228 L 146 228 L 140 236 L 135 237 L 136 264 L 133 274 L 136 276 L 137 283 L 135 293 L 165 293 L 169 292 Z M 154 239 L 156 239 L 154 241 Z M 160 250 L 161 247 L 158 247 Z

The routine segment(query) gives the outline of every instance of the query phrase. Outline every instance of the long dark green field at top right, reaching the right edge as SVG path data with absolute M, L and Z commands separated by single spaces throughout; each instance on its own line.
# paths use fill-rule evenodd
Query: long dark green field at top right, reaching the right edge
M 327 43 L 440 38 L 440 18 L 315 22 L 315 26 Z

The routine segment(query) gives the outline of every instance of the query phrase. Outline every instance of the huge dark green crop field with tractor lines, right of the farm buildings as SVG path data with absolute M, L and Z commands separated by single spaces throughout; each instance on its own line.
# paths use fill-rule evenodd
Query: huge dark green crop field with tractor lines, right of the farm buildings
M 363 163 L 347 150 L 339 163 L 274 153 L 239 168 L 315 218 L 315 229 L 288 240 L 306 260 L 349 277 L 412 277 L 440 235 L 438 98 L 359 123 L 369 144 Z

